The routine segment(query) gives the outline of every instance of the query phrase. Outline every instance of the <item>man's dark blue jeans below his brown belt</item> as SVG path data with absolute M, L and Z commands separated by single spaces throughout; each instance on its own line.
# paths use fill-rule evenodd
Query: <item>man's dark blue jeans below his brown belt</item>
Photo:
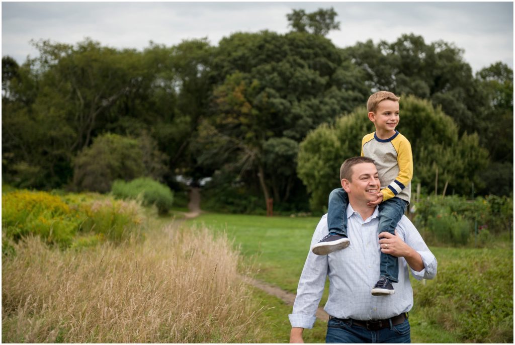
M 329 319 L 327 323 L 327 343 L 410 343 L 411 331 L 409 321 L 406 319 L 391 329 L 386 327 L 377 331 L 367 330 L 365 327 L 356 326 L 346 321 Z

